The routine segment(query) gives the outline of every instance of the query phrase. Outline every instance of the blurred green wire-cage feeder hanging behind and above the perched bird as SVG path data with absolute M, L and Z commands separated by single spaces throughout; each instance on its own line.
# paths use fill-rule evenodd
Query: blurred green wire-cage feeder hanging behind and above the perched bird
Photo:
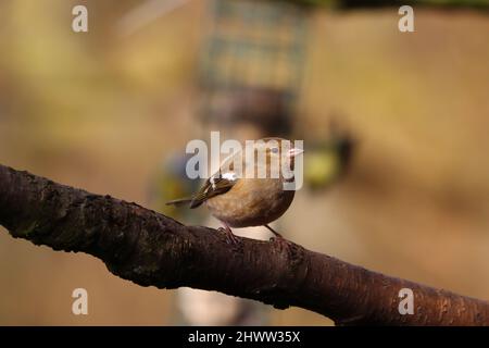
M 266 135 L 290 135 L 306 14 L 280 1 L 212 1 L 199 76 L 204 125 L 225 132 L 244 123 Z

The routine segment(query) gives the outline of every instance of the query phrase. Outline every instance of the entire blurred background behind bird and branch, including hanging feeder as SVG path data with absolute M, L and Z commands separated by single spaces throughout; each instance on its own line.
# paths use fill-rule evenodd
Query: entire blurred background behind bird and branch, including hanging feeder
M 399 32 L 399 5 L 308 3 L 1 1 L 0 163 L 212 225 L 204 210 L 163 206 L 198 185 L 181 175 L 187 141 L 210 130 L 304 139 L 306 182 L 280 232 L 489 299 L 486 1 L 414 3 L 414 33 Z M 72 30 L 77 4 L 88 33 Z M 140 287 L 0 229 L 2 325 L 331 324 Z M 72 314 L 77 287 L 88 315 Z

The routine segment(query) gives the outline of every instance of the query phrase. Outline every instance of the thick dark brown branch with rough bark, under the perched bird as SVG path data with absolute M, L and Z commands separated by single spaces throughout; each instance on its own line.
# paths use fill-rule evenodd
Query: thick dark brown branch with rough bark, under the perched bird
M 0 224 L 15 238 L 83 251 L 142 286 L 189 286 L 297 306 L 337 324 L 488 325 L 489 303 L 367 271 L 291 244 L 240 238 L 185 226 L 110 196 L 55 184 L 0 165 Z M 399 290 L 414 291 L 414 314 L 401 315 Z

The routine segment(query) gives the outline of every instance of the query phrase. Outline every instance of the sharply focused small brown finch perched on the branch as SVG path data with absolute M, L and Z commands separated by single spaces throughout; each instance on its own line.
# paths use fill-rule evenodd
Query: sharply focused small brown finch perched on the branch
M 250 150 L 254 152 L 253 157 L 247 154 Z M 285 184 L 293 184 L 294 177 L 285 175 L 281 169 L 288 165 L 289 173 L 293 173 L 294 159 L 302 152 L 292 147 L 290 140 L 277 137 L 263 138 L 251 145 L 247 141 L 244 151 L 225 159 L 197 194 L 166 204 L 188 204 L 190 209 L 206 206 L 223 224 L 224 228 L 220 229 L 233 244 L 238 239 L 231 227 L 265 226 L 277 239 L 285 240 L 268 224 L 280 217 L 292 203 L 296 190 L 285 189 Z

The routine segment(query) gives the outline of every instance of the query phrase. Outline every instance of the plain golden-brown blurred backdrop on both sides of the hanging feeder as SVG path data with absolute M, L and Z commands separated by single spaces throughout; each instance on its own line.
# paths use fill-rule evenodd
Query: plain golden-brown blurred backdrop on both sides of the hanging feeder
M 136 1 L 0 3 L 0 162 L 147 206 L 150 178 L 192 136 L 205 1 L 127 37 Z M 342 120 L 360 140 L 350 176 L 299 191 L 284 217 L 293 239 L 349 262 L 488 299 L 489 16 L 397 9 L 311 17 L 300 122 L 311 137 Z M 305 138 L 308 141 L 308 138 Z M 75 287 L 89 315 L 71 313 Z M 0 234 L 0 324 L 170 324 L 172 291 L 122 281 L 88 256 Z M 273 324 L 329 324 L 274 311 Z

